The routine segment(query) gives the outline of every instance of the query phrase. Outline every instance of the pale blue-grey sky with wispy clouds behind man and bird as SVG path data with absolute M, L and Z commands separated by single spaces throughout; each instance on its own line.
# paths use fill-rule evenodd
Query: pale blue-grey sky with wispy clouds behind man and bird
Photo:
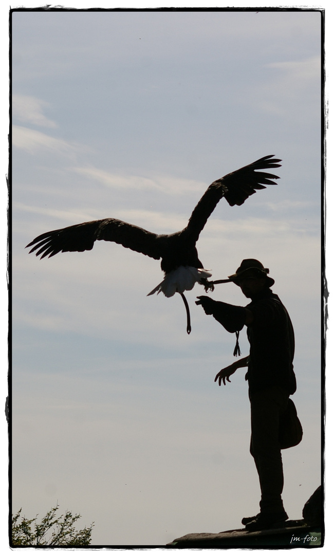
M 275 154 L 278 185 L 222 200 L 198 250 L 214 279 L 261 260 L 294 323 L 304 439 L 283 498 L 301 518 L 321 479 L 320 28 L 316 11 L 13 13 L 14 511 L 58 502 L 105 546 L 258 512 L 244 371 L 214 384 L 235 339 L 195 305 L 203 288 L 188 336 L 178 295 L 147 297 L 158 261 L 24 247 L 105 217 L 178 231 L 211 181 Z M 233 284 L 211 296 L 246 304 Z

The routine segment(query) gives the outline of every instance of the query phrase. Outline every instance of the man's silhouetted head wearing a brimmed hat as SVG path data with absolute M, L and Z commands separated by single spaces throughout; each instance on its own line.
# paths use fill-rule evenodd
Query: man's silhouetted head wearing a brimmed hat
M 242 261 L 236 273 L 229 276 L 229 279 L 241 288 L 246 297 L 253 299 L 263 289 L 274 284 L 274 279 L 269 278 L 267 274 L 269 269 L 264 268 L 259 260 L 248 258 Z

